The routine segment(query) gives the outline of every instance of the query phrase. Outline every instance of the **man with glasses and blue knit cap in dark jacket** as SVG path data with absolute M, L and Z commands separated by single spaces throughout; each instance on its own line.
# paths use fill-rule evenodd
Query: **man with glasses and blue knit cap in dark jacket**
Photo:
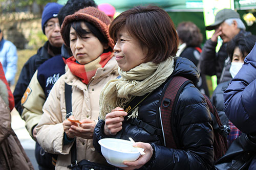
M 38 49 L 37 54 L 30 57 L 20 72 L 13 92 L 15 108 L 20 115 L 23 111 L 20 101 L 36 69 L 46 60 L 61 54 L 63 40 L 60 35 L 59 20 L 57 18 L 61 7 L 62 5 L 57 3 L 48 3 L 42 12 L 42 32 L 47 36 L 48 41 Z

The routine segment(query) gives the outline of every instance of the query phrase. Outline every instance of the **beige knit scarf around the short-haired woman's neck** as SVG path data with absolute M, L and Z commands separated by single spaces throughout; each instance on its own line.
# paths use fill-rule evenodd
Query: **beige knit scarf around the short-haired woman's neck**
M 105 115 L 114 108 L 118 106 L 124 108 L 132 96 L 142 96 L 163 84 L 174 70 L 173 58 L 169 57 L 160 64 L 142 63 L 129 71 L 122 71 L 118 68 L 121 78 L 110 80 L 100 93 L 99 118 L 104 120 Z M 130 116 L 138 117 L 138 107 Z

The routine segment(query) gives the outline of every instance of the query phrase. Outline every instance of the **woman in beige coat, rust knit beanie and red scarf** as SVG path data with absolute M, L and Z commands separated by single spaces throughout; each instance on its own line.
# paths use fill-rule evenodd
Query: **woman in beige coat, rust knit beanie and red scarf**
M 67 71 L 54 84 L 36 127 L 37 141 L 46 152 L 59 154 L 55 169 L 68 169 L 71 148 L 76 142 L 77 162 L 89 160 L 105 164 L 93 147 L 93 132 L 99 116 L 99 94 L 103 86 L 118 76 L 113 58 L 114 41 L 108 33 L 110 19 L 94 7 L 65 18 L 61 35 L 73 54 Z M 72 115 L 66 119 L 65 83 L 72 86 Z

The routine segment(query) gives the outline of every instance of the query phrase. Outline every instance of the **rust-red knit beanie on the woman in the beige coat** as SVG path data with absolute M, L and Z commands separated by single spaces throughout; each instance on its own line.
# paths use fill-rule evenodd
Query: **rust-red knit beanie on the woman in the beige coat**
M 69 44 L 67 42 L 69 42 L 70 40 L 66 39 L 65 36 L 63 36 L 66 30 L 65 27 L 68 25 L 68 23 L 73 22 L 75 20 L 85 20 L 87 22 L 92 23 L 96 28 L 98 28 L 99 31 L 103 34 L 103 36 L 108 40 L 108 45 L 111 47 L 111 50 L 113 52 L 115 44 L 113 39 L 110 38 L 109 35 L 109 25 L 111 20 L 106 14 L 104 14 L 104 12 L 99 11 L 95 7 L 83 8 L 75 12 L 74 14 L 65 17 L 61 26 L 60 33 L 66 45 Z

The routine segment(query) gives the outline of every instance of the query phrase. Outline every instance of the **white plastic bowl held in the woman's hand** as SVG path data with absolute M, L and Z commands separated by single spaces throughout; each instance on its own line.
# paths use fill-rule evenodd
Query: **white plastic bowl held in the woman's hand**
M 105 138 L 100 139 L 101 153 L 106 161 L 114 166 L 127 167 L 123 161 L 135 161 L 139 158 L 139 151 L 133 147 L 130 140 Z

